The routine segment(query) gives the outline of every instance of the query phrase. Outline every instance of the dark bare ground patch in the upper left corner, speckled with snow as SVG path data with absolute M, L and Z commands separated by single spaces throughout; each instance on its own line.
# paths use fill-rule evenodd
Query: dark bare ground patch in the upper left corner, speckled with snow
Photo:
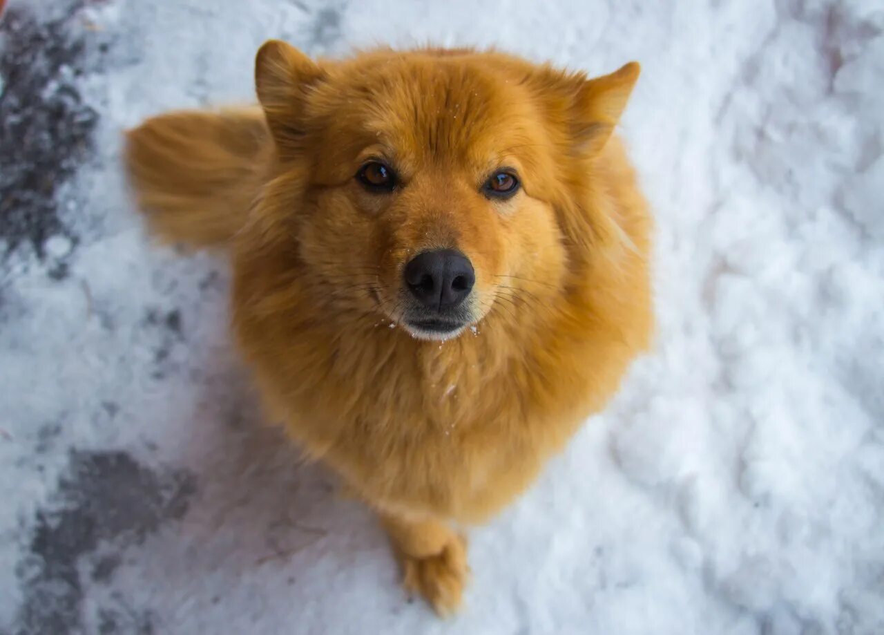
M 30 244 L 42 259 L 53 235 L 77 242 L 59 218 L 56 195 L 91 153 L 98 121 L 76 87 L 85 43 L 72 17 L 82 5 L 71 2 L 65 15 L 43 22 L 21 7 L 0 17 L 0 258 Z M 66 265 L 50 276 L 64 279 Z

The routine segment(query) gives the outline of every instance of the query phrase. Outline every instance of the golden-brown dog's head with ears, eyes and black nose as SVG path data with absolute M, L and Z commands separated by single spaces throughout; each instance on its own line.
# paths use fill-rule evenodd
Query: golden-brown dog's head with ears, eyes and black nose
M 301 285 L 328 310 L 431 340 L 492 313 L 529 320 L 584 234 L 604 233 L 575 188 L 592 187 L 637 74 L 469 50 L 316 63 L 267 42 L 255 79 L 278 172 L 261 213 L 290 228 Z

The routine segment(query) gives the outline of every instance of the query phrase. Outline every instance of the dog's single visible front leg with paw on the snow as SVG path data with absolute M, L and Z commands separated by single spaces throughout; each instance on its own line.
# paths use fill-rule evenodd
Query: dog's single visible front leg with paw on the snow
M 469 576 L 467 542 L 446 524 L 433 519 L 412 520 L 383 514 L 409 593 L 421 593 L 440 616 L 461 604 Z

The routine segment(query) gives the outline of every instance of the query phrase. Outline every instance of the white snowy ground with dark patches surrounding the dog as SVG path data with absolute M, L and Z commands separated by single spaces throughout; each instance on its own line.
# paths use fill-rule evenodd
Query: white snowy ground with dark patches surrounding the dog
M 884 5 L 12 0 L 0 632 L 884 632 Z M 255 416 L 228 273 L 152 249 L 120 130 L 251 99 L 267 37 L 644 65 L 659 342 L 474 532 L 461 616 Z

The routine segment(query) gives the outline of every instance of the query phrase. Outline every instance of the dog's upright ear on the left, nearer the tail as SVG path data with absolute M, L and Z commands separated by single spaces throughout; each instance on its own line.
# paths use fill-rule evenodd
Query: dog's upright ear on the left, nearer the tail
M 255 92 L 279 149 L 298 145 L 304 134 L 303 106 L 324 78 L 316 62 L 279 40 L 263 43 L 255 57 Z

